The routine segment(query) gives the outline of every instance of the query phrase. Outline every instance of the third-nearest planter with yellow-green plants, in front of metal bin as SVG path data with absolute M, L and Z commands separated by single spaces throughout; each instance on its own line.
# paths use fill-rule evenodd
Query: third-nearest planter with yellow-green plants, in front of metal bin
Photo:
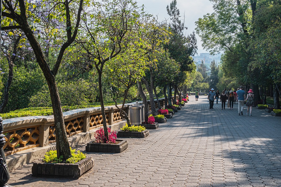
M 149 135 L 149 131 L 145 129 L 144 126 L 131 126 L 128 127 L 126 123 L 125 126 L 121 128 L 121 131 L 117 133 L 117 137 L 127 137 L 127 138 L 145 138 Z

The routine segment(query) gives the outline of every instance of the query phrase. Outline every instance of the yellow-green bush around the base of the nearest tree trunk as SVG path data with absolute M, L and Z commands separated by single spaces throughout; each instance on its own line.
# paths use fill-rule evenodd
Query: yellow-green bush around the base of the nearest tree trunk
M 86 158 L 86 154 L 81 153 L 80 151 L 77 151 L 77 153 L 75 153 L 75 149 L 71 149 L 71 148 L 70 148 L 70 151 L 71 151 L 72 157 L 68 158 L 66 160 L 66 163 L 75 164 L 76 162 L 79 162 L 80 160 L 83 160 L 84 158 Z M 44 155 L 43 162 L 61 163 L 62 158 L 63 158 L 63 156 L 60 156 L 59 158 L 57 158 L 56 150 L 55 151 L 50 150 L 49 152 L 46 153 L 46 155 Z

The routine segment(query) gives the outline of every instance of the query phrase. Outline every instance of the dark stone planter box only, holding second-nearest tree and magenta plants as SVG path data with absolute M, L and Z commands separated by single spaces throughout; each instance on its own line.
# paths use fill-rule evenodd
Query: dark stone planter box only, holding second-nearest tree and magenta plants
M 121 153 L 122 151 L 124 151 L 125 149 L 128 148 L 127 140 L 116 139 L 116 141 L 120 141 L 120 143 L 109 144 L 109 143 L 90 142 L 90 143 L 87 143 L 86 151 L 105 152 L 105 153 Z

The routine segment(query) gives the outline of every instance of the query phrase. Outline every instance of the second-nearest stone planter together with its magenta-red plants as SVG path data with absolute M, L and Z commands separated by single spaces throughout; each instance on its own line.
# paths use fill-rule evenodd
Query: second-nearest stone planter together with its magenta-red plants
M 107 127 L 109 140 L 104 140 L 103 128 L 95 131 L 95 141 L 87 143 L 86 151 L 93 152 L 107 152 L 107 153 L 121 153 L 128 148 L 127 140 L 117 139 L 116 131 L 112 131 Z

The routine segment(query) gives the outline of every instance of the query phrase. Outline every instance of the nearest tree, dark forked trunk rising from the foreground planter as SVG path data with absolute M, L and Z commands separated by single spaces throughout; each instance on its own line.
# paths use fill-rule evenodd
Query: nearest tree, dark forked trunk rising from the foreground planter
M 34 51 L 37 63 L 39 64 L 44 77 L 46 78 L 54 111 L 57 156 L 63 156 L 63 161 L 71 157 L 71 152 L 66 135 L 66 129 L 64 127 L 64 118 L 55 76 L 61 65 L 64 51 L 76 38 L 80 24 L 82 6 L 83 0 L 65 0 L 59 2 L 44 1 L 43 3 L 41 1 L 27 2 L 24 0 L 19 0 L 16 4 L 14 4 L 12 1 L 4 0 L 2 9 L 2 16 L 7 23 L 6 27 L 3 27 L 2 29 L 21 29 L 23 31 L 26 39 L 29 41 L 29 44 Z M 37 12 L 37 7 L 40 7 L 40 11 L 45 9 L 46 15 L 42 16 L 40 12 Z M 61 34 L 65 34 L 65 40 L 60 42 L 61 47 L 58 50 L 59 54 L 56 58 L 54 68 L 51 70 L 42 51 L 42 46 L 38 42 L 40 39 L 40 34 L 38 34 L 38 31 L 35 31 L 37 23 L 40 23 L 41 18 L 47 17 L 48 19 L 52 20 L 54 16 L 56 19 L 65 23 L 65 30 L 61 29 Z M 74 27 L 73 24 L 75 25 Z

